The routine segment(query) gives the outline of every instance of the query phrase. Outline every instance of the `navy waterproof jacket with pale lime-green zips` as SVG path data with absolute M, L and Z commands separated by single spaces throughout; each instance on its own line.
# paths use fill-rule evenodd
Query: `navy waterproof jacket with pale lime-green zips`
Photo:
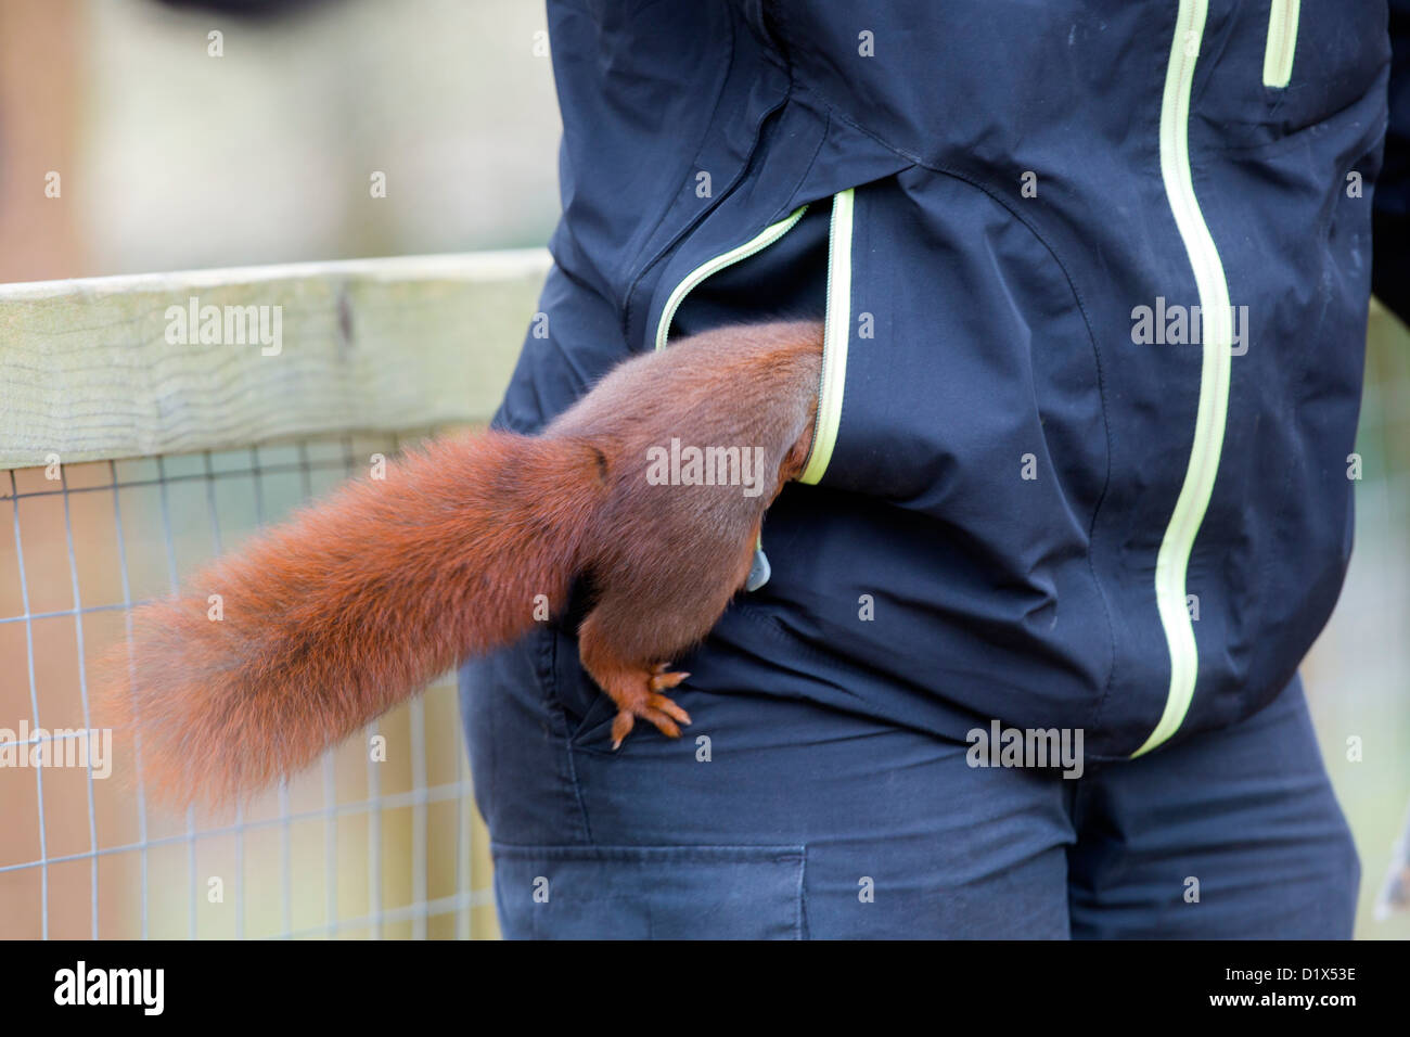
M 826 317 L 811 485 L 721 643 L 842 708 L 1081 727 L 1090 756 L 1283 689 L 1351 552 L 1390 90 L 1375 268 L 1404 305 L 1385 0 L 548 16 L 564 212 L 498 425 L 687 332 Z

